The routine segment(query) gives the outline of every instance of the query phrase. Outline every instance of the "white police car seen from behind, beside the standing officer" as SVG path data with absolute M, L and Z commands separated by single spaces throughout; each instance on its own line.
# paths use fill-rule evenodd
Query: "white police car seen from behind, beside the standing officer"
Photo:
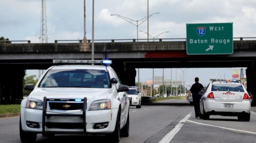
M 205 91 L 200 91 L 200 118 L 221 115 L 250 121 L 251 97 L 239 80 L 211 80 Z

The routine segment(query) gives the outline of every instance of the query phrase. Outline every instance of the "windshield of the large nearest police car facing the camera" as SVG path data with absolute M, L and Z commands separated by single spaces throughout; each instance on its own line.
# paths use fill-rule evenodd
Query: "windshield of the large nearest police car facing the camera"
M 97 69 L 51 69 L 39 87 L 110 88 L 109 74 Z

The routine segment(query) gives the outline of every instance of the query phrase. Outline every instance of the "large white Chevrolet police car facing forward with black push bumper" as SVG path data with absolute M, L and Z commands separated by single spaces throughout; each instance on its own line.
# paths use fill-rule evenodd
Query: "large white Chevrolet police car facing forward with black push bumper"
M 38 83 L 26 85 L 21 103 L 20 140 L 37 134 L 105 134 L 111 142 L 129 136 L 129 87 L 113 68 L 97 60 L 54 60 Z M 91 65 L 86 65 L 90 63 Z M 81 65 L 83 64 L 83 65 Z

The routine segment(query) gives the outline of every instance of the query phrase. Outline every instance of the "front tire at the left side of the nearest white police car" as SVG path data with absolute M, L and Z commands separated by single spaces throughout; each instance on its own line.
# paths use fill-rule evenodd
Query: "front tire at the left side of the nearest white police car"
M 22 142 L 35 142 L 37 140 L 36 133 L 29 133 L 22 130 L 22 119 L 20 118 L 20 141 Z

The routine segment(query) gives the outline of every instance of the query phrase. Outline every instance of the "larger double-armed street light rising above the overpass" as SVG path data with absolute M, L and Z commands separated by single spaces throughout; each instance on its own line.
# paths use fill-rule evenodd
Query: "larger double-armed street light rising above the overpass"
M 140 19 L 140 20 L 129 19 L 129 18 L 125 17 L 125 16 L 120 16 L 119 14 L 110 14 L 110 15 L 111 16 L 118 16 L 121 19 L 123 19 L 123 20 L 125 20 L 125 21 L 127 21 L 127 22 L 129 22 L 129 23 L 131 23 L 133 25 L 135 25 L 137 27 L 137 42 L 138 42 L 138 26 L 140 24 L 142 24 L 145 20 L 149 19 L 153 14 L 159 14 L 159 12 L 152 13 L 152 14 L 150 14 L 150 15 L 148 15 L 148 16 L 144 17 L 143 19 Z M 134 24 L 134 23 L 136 23 L 136 24 Z

